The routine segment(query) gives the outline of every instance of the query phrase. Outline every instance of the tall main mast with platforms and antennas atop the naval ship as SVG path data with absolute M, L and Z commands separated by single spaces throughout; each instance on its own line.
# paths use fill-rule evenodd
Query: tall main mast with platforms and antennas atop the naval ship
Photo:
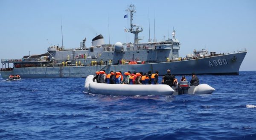
M 126 11 L 130 12 L 130 18 L 131 18 L 130 19 L 131 20 L 131 28 L 129 28 L 128 32 L 134 34 L 134 43 L 139 43 L 139 40 L 141 40 L 141 39 L 139 39 L 138 34 L 143 31 L 143 28 L 139 28 L 139 26 L 137 26 L 137 25 L 132 23 L 132 21 L 133 21 L 133 14 L 136 12 L 134 5 L 128 6 Z

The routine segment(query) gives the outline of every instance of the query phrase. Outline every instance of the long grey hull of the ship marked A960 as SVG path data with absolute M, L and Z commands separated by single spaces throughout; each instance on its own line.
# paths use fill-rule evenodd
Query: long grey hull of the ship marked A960
M 148 72 L 159 71 L 159 75 L 166 74 L 170 69 L 174 75 L 215 74 L 215 75 L 238 75 L 241 63 L 246 55 L 245 52 L 211 56 L 201 59 L 191 59 L 176 62 L 162 62 L 150 64 L 120 64 L 120 65 L 98 65 L 79 67 L 25 67 L 14 68 L 12 71 L 1 71 L 3 78 L 9 75 L 20 75 L 22 78 L 63 78 L 63 77 L 86 77 L 94 75 L 96 71 L 106 70 L 106 73 L 113 71 L 137 71 Z

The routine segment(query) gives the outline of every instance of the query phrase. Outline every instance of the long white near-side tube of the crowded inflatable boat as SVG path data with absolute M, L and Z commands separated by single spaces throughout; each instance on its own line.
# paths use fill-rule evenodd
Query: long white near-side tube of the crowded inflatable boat
M 85 92 L 101 95 L 172 95 L 174 90 L 166 84 L 102 84 L 93 82 L 93 75 L 85 79 Z

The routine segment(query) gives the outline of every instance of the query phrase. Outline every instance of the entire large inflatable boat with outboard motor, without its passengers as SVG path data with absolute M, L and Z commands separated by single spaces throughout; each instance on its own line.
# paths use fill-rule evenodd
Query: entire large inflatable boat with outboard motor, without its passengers
M 101 95 L 180 95 L 180 94 L 210 94 L 215 89 L 208 84 L 189 86 L 188 82 L 180 82 L 178 87 L 166 84 L 102 84 L 93 82 L 93 75 L 85 79 L 85 92 Z

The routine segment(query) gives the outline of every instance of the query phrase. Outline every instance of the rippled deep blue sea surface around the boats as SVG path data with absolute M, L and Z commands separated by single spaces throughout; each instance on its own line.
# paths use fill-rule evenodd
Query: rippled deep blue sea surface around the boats
M 105 96 L 85 93 L 85 78 L 0 78 L 0 139 L 256 140 L 256 71 L 198 78 L 215 92 Z

